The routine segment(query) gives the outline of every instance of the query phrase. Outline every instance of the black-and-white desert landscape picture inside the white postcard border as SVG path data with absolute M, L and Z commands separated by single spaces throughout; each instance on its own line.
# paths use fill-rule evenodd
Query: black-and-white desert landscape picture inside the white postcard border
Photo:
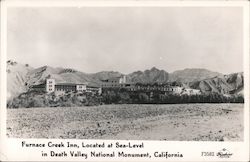
M 242 141 L 242 9 L 11 8 L 7 135 Z

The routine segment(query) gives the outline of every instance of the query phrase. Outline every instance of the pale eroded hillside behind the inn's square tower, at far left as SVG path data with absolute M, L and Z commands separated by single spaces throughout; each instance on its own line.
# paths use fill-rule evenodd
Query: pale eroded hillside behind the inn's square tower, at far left
M 30 85 L 44 83 L 47 78 L 54 78 L 59 83 L 89 83 L 99 85 L 100 81 L 92 75 L 74 69 L 43 66 L 32 68 L 14 61 L 7 62 L 7 98 L 15 97 L 28 90 Z

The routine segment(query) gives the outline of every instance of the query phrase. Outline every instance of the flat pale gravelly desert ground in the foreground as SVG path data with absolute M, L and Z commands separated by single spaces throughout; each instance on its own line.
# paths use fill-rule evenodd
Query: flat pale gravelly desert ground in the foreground
M 243 104 L 124 104 L 8 109 L 7 136 L 242 141 L 243 108 Z

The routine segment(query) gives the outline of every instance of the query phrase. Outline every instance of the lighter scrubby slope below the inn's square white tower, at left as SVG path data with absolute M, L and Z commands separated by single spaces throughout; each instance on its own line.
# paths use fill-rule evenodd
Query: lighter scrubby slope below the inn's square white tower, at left
M 101 97 L 91 93 L 68 92 L 64 95 L 56 95 L 55 93 L 29 91 L 8 100 L 7 108 L 76 107 L 100 104 Z

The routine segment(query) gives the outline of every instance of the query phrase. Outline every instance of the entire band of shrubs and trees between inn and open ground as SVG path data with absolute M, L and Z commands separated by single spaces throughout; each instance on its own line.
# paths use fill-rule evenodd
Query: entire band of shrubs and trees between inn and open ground
M 8 108 L 77 107 L 102 104 L 180 104 L 180 103 L 244 103 L 243 95 L 202 93 L 200 95 L 161 94 L 160 92 L 128 91 L 106 88 L 101 95 L 67 92 L 64 95 L 28 91 L 10 99 Z

